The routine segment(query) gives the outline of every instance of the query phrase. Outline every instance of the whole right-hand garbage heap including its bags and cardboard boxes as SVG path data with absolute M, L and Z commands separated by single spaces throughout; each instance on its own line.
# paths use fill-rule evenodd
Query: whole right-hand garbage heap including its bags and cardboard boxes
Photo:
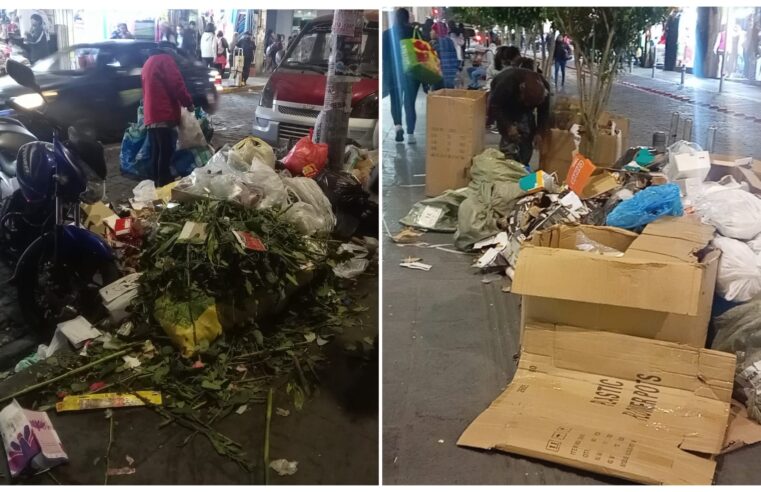
M 442 107 L 473 105 L 456 92 Z M 450 123 L 431 121 L 431 99 L 436 133 Z M 518 372 L 459 445 L 710 484 L 712 456 L 761 440 L 761 162 L 685 141 L 623 151 L 622 128 L 607 116 L 594 159 L 575 151 L 578 125 L 555 128 L 532 173 L 464 145 L 477 150 L 457 164 L 467 186 L 401 223 L 453 232 L 474 267 L 523 296 Z M 446 171 L 434 143 L 436 183 Z

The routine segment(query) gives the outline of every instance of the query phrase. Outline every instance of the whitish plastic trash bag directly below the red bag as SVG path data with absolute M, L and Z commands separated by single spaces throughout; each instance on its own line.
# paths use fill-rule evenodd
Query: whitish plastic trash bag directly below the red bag
M 336 217 L 319 185 L 304 177 L 283 178 L 283 183 L 291 202 L 284 214 L 285 220 L 307 236 L 330 233 L 336 225 Z

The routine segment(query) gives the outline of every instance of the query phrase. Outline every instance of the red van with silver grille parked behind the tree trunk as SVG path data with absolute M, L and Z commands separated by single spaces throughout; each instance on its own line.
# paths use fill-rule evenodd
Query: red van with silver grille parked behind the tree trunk
M 314 127 L 322 109 L 333 16 L 307 23 L 270 76 L 256 107 L 253 134 L 274 147 L 297 140 Z M 365 22 L 362 78 L 352 88 L 348 138 L 378 146 L 378 22 Z

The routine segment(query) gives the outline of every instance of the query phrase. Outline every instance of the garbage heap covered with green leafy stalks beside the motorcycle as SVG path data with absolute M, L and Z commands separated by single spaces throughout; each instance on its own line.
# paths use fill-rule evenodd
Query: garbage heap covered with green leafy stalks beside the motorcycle
M 367 309 L 348 279 L 375 268 L 378 210 L 366 188 L 377 154 L 348 146 L 342 171 L 326 160 L 326 148 L 304 140 L 277 161 L 249 137 L 163 188 L 141 182 L 129 203 L 83 205 L 86 227 L 126 276 L 101 289 L 102 319 L 61 323 L 16 367 L 37 382 L 0 396 L 12 477 L 68 460 L 53 428 L 65 412 L 129 406 L 254 466 L 214 424 L 253 404 L 267 402 L 270 414 L 274 387 L 300 410 L 322 347 Z M 360 356 L 376 341 L 361 345 Z

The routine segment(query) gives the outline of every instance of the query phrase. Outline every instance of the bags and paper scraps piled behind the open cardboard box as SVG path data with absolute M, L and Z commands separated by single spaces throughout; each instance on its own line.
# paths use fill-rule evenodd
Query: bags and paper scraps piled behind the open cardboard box
M 761 350 L 751 320 L 761 299 L 761 162 L 711 155 L 693 142 L 665 149 L 633 147 L 614 165 L 598 167 L 575 153 L 566 176 L 526 171 L 496 149 L 474 156 L 467 188 L 415 204 L 400 222 L 412 229 L 449 232 L 455 246 L 475 253 L 473 266 L 512 279 L 521 246 L 558 224 L 611 226 L 641 233 L 656 220 L 692 215 L 717 233 L 720 302 L 734 306 L 714 320 L 713 348 L 738 354 L 735 396 L 761 422 Z M 397 236 L 412 237 L 414 232 Z M 401 241 L 400 241 L 401 242 Z M 577 240 L 576 249 L 613 254 Z M 620 252 L 618 254 L 621 254 Z M 505 291 L 509 291 L 506 279 Z M 738 321 L 739 320 L 739 321 Z

